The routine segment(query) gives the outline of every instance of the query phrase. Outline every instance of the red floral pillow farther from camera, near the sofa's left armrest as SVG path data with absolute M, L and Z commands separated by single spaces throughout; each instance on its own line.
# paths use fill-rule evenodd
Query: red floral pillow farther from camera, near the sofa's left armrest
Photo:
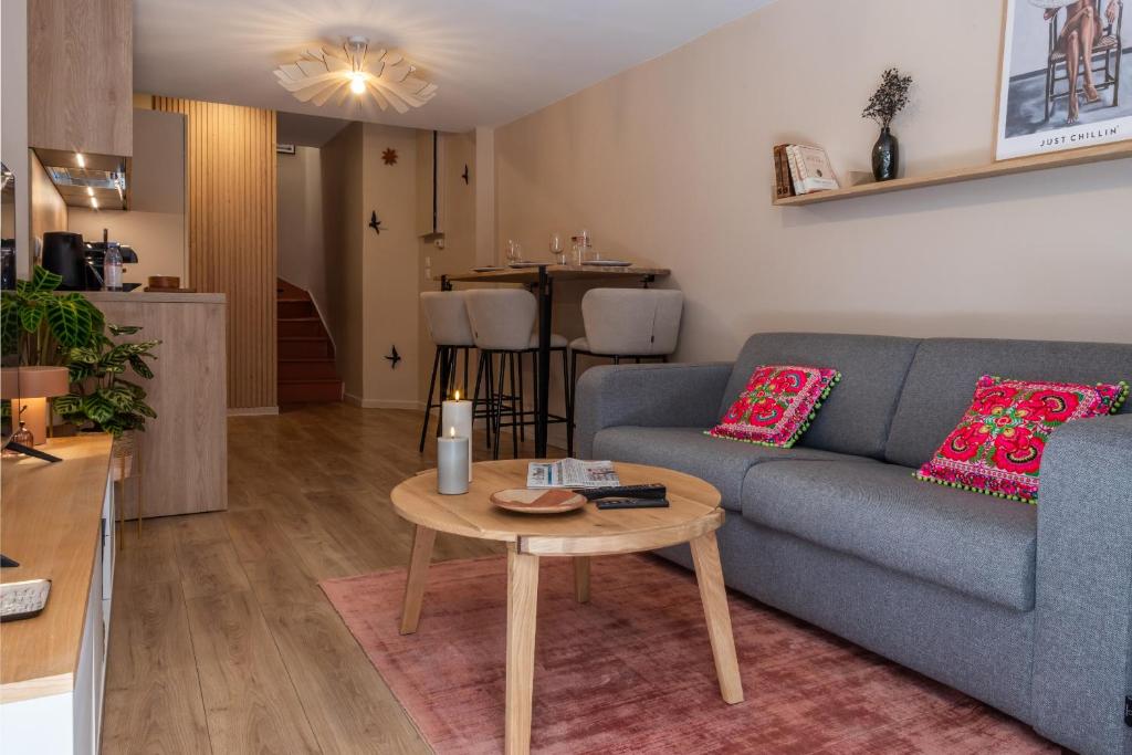
M 809 427 L 821 402 L 840 379 L 837 370 L 816 367 L 757 367 L 723 421 L 705 434 L 789 448 Z

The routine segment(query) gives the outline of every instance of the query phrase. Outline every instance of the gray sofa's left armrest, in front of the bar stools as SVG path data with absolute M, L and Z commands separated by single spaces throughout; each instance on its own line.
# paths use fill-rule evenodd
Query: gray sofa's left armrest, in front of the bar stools
M 577 383 L 575 447 L 589 458 L 599 430 L 636 427 L 702 427 L 719 422 L 730 362 L 602 366 Z

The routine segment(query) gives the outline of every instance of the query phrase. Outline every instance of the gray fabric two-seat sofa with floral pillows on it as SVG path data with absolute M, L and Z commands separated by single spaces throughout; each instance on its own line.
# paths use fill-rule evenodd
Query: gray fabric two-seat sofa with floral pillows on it
M 702 432 L 760 363 L 841 371 L 794 448 Z M 1132 753 L 1130 406 L 1054 435 L 1037 506 L 914 479 L 984 374 L 1132 381 L 1132 345 L 758 334 L 735 363 L 589 370 L 578 455 L 680 470 L 719 488 L 731 587 L 1061 745 Z M 686 549 L 662 555 L 691 567 Z

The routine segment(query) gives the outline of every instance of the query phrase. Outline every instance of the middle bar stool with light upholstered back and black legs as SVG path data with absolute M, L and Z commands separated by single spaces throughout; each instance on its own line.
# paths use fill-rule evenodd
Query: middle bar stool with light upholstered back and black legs
M 518 457 L 518 440 L 525 436 L 524 428 L 533 424 L 538 412 L 528 411 L 523 392 L 523 355 L 531 354 L 531 371 L 538 380 L 539 336 L 534 333 L 538 317 L 538 302 L 534 294 L 523 289 L 478 289 L 464 292 L 468 306 L 468 318 L 472 324 L 472 335 L 475 346 L 480 350 L 480 364 L 477 374 L 483 371 L 488 386 L 488 401 L 492 402 L 491 418 L 488 420 L 488 435 L 495 436 L 495 457 L 499 458 L 499 434 L 503 430 L 504 417 L 509 418 L 507 427 L 512 431 L 512 453 Z M 566 338 L 560 335 L 550 336 L 550 350 L 563 355 L 563 397 L 569 406 L 569 385 L 566 363 Z M 498 357 L 498 369 L 496 358 Z M 505 392 L 505 378 L 507 379 Z M 479 380 L 477 379 L 477 383 Z M 535 392 L 535 402 L 538 393 Z M 551 415 L 551 422 L 565 422 L 567 418 Z

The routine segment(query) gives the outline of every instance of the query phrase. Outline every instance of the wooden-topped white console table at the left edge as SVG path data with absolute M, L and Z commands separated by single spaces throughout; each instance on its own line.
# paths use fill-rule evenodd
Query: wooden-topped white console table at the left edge
M 59 438 L 63 461 L 6 458 L 0 582 L 51 580 L 43 612 L 0 625 L 0 731 L 12 755 L 97 753 L 114 582 L 109 435 Z

